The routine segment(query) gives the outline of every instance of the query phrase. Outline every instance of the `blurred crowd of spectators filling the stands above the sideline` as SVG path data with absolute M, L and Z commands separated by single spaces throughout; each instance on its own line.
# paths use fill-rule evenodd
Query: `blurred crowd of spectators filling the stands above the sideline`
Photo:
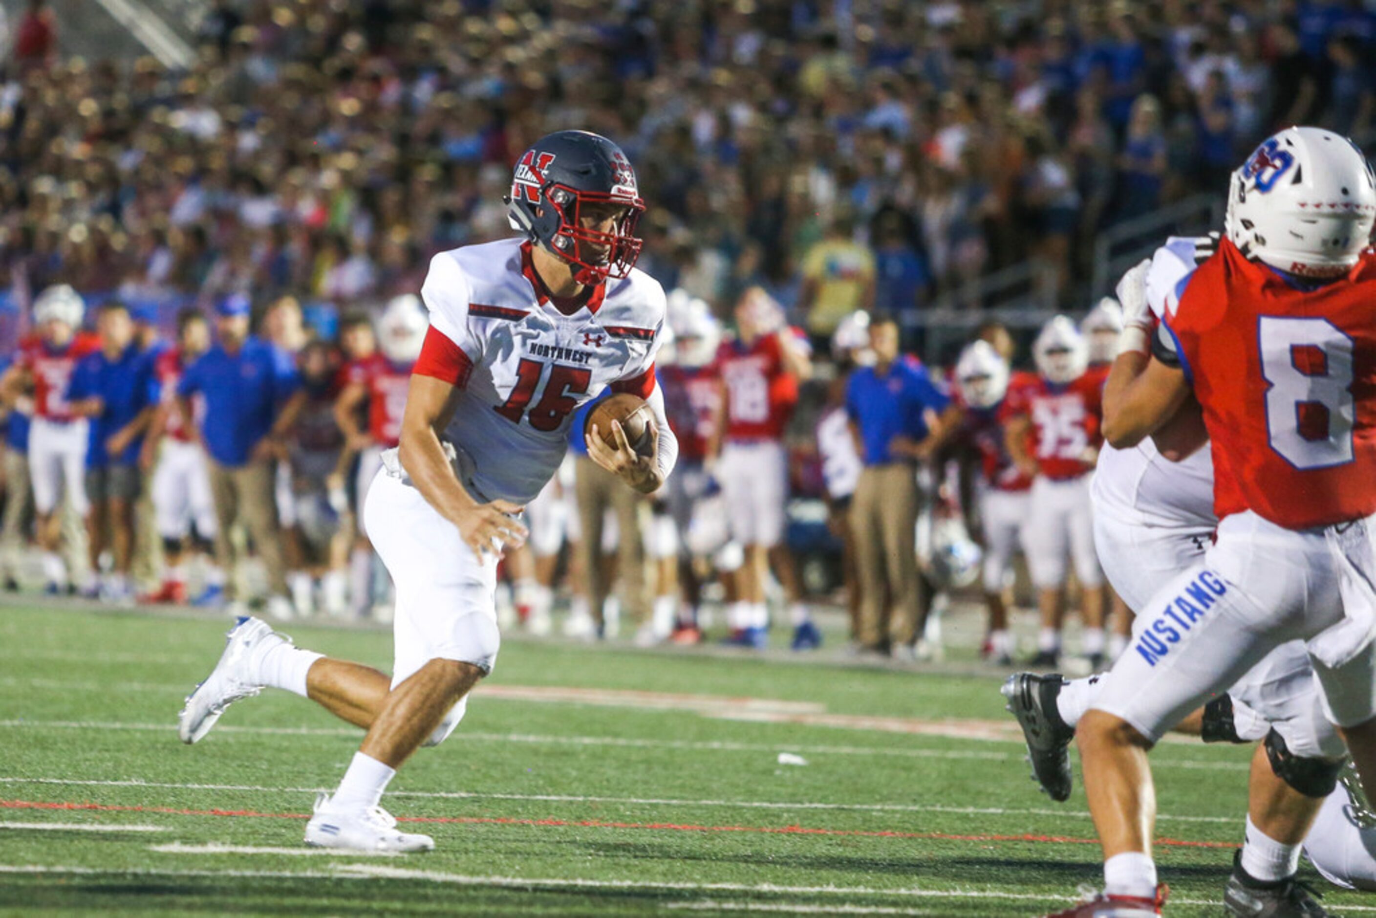
M 1373 102 L 1361 0 L 213 0 L 187 72 L 63 58 L 32 7 L 0 91 L 21 301 L 414 292 L 577 125 L 637 164 L 641 267 L 820 336 L 1031 256 L 1072 292 L 1104 227 L 1278 125 L 1361 140 Z

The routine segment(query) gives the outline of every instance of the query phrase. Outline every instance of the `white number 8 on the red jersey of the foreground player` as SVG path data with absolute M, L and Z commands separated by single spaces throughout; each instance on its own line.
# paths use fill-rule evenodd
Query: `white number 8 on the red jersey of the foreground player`
M 1263 315 L 1258 322 L 1266 431 L 1298 469 L 1353 461 L 1353 339 L 1328 319 Z

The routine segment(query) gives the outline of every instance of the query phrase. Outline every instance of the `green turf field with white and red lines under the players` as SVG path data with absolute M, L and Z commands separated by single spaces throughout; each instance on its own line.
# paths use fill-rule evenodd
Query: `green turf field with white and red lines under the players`
M 384 801 L 438 849 L 311 852 L 314 790 L 359 732 L 270 691 L 179 743 L 224 630 L 0 606 L 0 910 L 1040 915 L 1098 881 L 1083 794 L 1036 793 L 996 673 L 516 639 Z M 286 630 L 389 662 L 383 632 Z M 1219 912 L 1248 751 L 1154 754 L 1168 914 Z M 1376 911 L 1318 885 L 1339 914 Z

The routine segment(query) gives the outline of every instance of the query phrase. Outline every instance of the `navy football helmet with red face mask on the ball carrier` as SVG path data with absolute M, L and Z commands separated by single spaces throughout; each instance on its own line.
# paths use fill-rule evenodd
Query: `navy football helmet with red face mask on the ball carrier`
M 579 284 L 623 278 L 640 257 L 636 224 L 645 202 L 636 171 L 601 135 L 556 131 L 537 140 L 516 162 L 505 201 L 512 228 L 572 264 Z M 582 226 L 589 206 L 619 209 L 615 230 Z

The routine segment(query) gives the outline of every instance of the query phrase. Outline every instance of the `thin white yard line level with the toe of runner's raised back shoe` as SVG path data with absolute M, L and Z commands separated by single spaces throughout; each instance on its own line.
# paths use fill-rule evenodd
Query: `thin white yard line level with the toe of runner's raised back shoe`
M 74 721 L 74 720 L 0 720 L 0 728 L 33 729 L 135 729 L 171 732 L 176 724 L 139 724 L 125 721 Z M 219 732 L 261 734 L 272 736 L 362 736 L 363 731 L 354 727 L 216 727 Z M 976 761 L 1022 761 L 1022 753 L 995 753 L 958 749 L 883 749 L 878 746 L 817 746 L 795 743 L 738 743 L 727 740 L 688 739 L 640 739 L 629 736 L 548 736 L 537 734 L 490 734 L 465 731 L 464 742 L 534 743 L 544 746 L 590 746 L 610 749 L 682 749 L 691 751 L 728 753 L 810 753 L 813 756 L 896 756 L 900 758 L 948 758 Z M 1156 768 L 1186 768 L 1196 771 L 1247 771 L 1245 761 L 1201 761 L 1178 760 L 1157 756 L 1152 760 Z

